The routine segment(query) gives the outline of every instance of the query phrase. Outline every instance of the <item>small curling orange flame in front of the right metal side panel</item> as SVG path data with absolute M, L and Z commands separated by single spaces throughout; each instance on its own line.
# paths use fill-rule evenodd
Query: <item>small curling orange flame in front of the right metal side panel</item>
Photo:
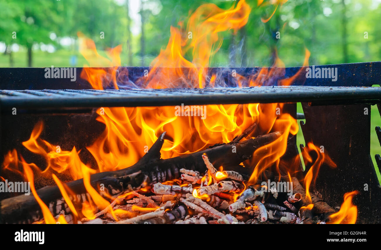
M 316 182 L 317 174 L 319 173 L 320 166 L 323 163 L 326 163 L 328 166 L 332 168 L 336 168 L 336 163 L 333 162 L 333 160 L 328 156 L 327 153 L 324 153 L 322 149 L 315 146 L 313 143 L 309 142 L 306 147 L 304 147 L 302 155 L 304 159 L 304 163 L 312 163 L 312 157 L 311 152 L 315 152 L 317 155 L 317 159 L 312 164 L 311 168 L 308 170 L 306 176 L 304 177 L 304 186 L 306 187 L 306 197 L 311 202 L 311 194 L 309 192 L 310 185 L 312 182 L 312 179 L 314 180 L 314 183 Z

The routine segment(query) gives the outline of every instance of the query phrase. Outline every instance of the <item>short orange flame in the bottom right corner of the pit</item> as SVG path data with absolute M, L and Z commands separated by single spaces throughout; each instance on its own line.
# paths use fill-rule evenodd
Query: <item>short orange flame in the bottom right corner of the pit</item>
M 359 191 L 346 193 L 339 212 L 331 214 L 327 224 L 355 224 L 357 220 L 357 206 L 352 204 L 352 199 L 358 193 Z

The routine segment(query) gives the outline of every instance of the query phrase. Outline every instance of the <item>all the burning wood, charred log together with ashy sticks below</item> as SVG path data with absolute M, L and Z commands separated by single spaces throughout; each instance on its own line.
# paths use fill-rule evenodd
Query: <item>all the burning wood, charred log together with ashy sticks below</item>
M 216 144 L 170 159 L 160 158 L 164 132 L 135 165 L 91 175 L 90 184 L 106 187 L 103 192 L 106 194 L 99 193 L 110 201 L 104 209 L 92 211 L 91 216 L 73 215 L 57 186 L 42 188 L 37 194 L 49 204 L 56 219 L 64 216 L 68 223 L 325 223 L 335 210 L 313 194 L 311 200 L 307 199 L 306 191 L 296 178 L 292 178 L 292 195 L 275 188 L 264 190 L 260 181 L 246 185 L 252 169 L 240 164 L 254 152 L 258 154 L 256 149 L 282 134 L 274 132 L 242 140 L 250 135 L 254 126 L 227 144 Z M 217 171 L 212 163 L 224 165 L 224 170 Z M 289 181 L 289 177 L 283 180 Z M 84 189 L 83 180 L 66 182 L 66 186 L 76 194 L 70 196 L 73 206 L 82 207 L 82 215 L 86 215 L 83 204 L 91 202 L 91 197 Z M 22 195 L 3 200 L 0 212 L 5 223 L 43 223 L 43 214 L 37 208 L 33 196 Z

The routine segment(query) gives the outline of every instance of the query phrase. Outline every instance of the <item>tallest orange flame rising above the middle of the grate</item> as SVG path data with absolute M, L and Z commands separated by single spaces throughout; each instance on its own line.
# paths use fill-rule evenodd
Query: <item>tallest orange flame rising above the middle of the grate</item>
M 152 70 L 144 80 L 145 87 L 205 87 L 210 59 L 222 45 L 223 38 L 219 33 L 226 30 L 237 32 L 247 23 L 250 11 L 245 0 L 227 10 L 215 4 L 201 5 L 189 17 L 186 27 L 182 23 L 179 28 L 171 27 L 170 40 L 151 63 Z M 192 62 L 184 58 L 188 51 L 192 52 Z M 184 72 L 182 67 L 191 69 Z M 172 83 L 172 86 L 163 83 Z

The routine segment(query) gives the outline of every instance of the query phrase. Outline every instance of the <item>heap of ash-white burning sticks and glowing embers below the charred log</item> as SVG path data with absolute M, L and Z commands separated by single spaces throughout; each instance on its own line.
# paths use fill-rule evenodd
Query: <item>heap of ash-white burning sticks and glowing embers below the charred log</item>
M 287 195 L 285 192 L 278 193 L 276 188 L 263 191 L 260 185 L 245 187 L 245 177 L 240 173 L 219 172 L 206 155 L 202 155 L 202 158 L 208 169 L 204 174 L 189 169 L 180 169 L 181 179 L 174 179 L 167 184 L 158 182 L 150 188 L 147 195 L 136 191 L 118 195 L 111 204 L 112 209 L 114 212 L 124 210 L 126 213 L 115 212 L 112 215 L 105 209 L 97 214 L 97 218 L 93 220 L 85 218 L 81 223 L 325 223 L 318 217 L 312 217 L 310 208 L 312 206 L 303 206 L 308 202 L 305 198 L 305 191 L 296 178 L 293 178 L 296 188 L 293 195 Z M 323 201 L 316 200 L 317 197 L 314 196 L 314 199 L 317 209 L 320 209 L 319 212 L 325 215 L 321 218 L 327 219 L 327 215 L 333 213 L 334 210 Z M 117 203 L 119 204 L 116 205 Z M 281 205 L 279 205 L 280 203 Z

